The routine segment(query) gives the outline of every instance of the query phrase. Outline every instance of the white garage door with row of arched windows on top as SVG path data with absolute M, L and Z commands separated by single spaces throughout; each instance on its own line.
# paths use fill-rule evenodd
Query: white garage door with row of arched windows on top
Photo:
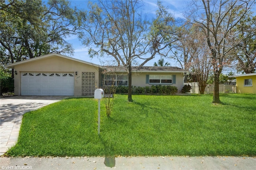
M 21 95 L 73 96 L 74 73 L 23 72 Z

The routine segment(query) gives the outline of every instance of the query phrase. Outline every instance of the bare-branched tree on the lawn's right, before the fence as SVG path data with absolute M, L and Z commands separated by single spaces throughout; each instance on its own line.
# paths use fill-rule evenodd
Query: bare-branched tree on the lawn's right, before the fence
M 225 65 L 230 63 L 230 51 L 242 40 L 234 41 L 234 27 L 252 8 L 254 0 L 202 0 L 194 1 L 190 12 L 191 22 L 196 23 L 204 33 L 211 52 L 214 75 L 212 103 L 220 103 L 219 76 Z

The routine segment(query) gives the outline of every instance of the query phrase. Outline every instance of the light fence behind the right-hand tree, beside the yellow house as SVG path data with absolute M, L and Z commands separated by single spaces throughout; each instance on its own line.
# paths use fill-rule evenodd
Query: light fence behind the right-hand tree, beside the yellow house
M 199 94 L 198 82 L 184 83 L 184 85 L 190 85 L 192 87 L 190 93 Z M 212 94 L 213 85 L 207 85 L 204 89 L 204 94 Z M 236 85 L 219 85 L 219 93 L 236 93 Z

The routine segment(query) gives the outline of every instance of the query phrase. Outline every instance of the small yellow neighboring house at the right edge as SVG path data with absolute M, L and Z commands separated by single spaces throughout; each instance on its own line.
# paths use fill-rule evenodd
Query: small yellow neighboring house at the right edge
M 256 73 L 230 75 L 236 77 L 236 93 L 256 94 Z

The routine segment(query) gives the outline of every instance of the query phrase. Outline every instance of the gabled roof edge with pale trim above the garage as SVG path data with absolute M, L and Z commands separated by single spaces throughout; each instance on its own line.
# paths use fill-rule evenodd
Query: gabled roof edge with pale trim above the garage
M 4 65 L 4 67 L 10 68 L 10 69 L 14 69 L 14 66 L 16 66 L 16 65 L 20 65 L 20 64 L 24 64 L 24 63 L 29 63 L 29 62 L 32 62 L 32 61 L 44 59 L 44 58 L 47 58 L 47 57 L 53 57 L 53 56 L 58 56 L 58 57 L 66 58 L 66 59 L 71 59 L 71 60 L 74 60 L 74 61 L 78 61 L 80 63 L 85 63 L 85 64 L 93 65 L 93 66 L 96 66 L 96 67 L 102 67 L 101 65 L 97 65 L 97 64 L 94 64 L 94 63 L 86 62 L 86 61 L 83 61 L 83 60 L 80 60 L 80 59 L 75 59 L 75 58 L 68 57 L 66 55 L 61 55 L 61 54 L 58 54 L 58 53 L 50 53 L 50 54 L 42 55 L 42 56 L 39 56 L 39 57 L 35 57 L 35 58 L 31 58 L 31 59 L 26 59 L 26 60 L 23 60 L 23 61 L 18 61 L 16 63 Z

